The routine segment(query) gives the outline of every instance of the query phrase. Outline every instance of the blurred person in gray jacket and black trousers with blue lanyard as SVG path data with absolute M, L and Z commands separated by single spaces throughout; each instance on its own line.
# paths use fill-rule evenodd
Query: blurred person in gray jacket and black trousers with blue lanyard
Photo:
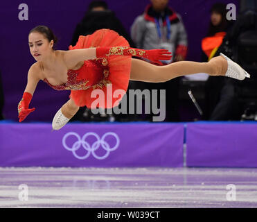
M 180 15 L 168 6 L 168 0 L 151 0 L 143 15 L 134 20 L 131 35 L 139 49 L 168 49 L 172 52 L 172 60 L 168 63 L 186 58 L 188 41 L 184 24 Z M 163 61 L 163 65 L 166 64 Z M 166 89 L 165 121 L 179 121 L 179 82 L 180 78 L 175 78 L 166 83 L 137 84 L 141 88 Z

